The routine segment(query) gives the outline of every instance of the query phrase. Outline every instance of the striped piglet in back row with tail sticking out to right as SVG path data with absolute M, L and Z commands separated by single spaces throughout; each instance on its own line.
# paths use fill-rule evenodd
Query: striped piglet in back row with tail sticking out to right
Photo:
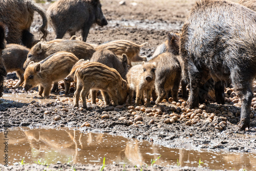
M 102 49 L 108 49 L 116 55 L 122 55 L 126 54 L 128 58 L 128 65 L 132 67 L 131 62 L 136 61 L 147 61 L 146 56 L 140 56 L 140 47 L 147 44 L 147 42 L 144 42 L 144 44 L 137 45 L 132 41 L 129 40 L 114 40 L 105 42 L 103 44 L 98 45 L 95 47 L 95 50 L 102 50 Z

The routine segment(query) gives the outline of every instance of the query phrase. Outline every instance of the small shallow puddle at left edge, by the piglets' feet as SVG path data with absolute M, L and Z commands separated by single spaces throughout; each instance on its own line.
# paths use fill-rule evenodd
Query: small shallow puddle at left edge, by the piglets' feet
M 43 98 L 38 96 L 35 93 L 4 93 L 3 97 L 0 99 L 1 103 L 31 103 L 32 101 L 36 101 L 42 104 L 46 104 L 48 102 L 61 101 L 63 103 L 72 104 L 71 98 L 66 97 L 65 95 L 53 95 L 51 94 L 49 98 Z

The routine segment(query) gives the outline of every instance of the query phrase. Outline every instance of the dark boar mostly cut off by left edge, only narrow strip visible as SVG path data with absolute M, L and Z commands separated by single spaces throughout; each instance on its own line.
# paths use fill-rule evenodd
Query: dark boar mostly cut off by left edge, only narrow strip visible
M 0 97 L 3 96 L 4 91 L 4 77 L 7 75 L 4 61 L 2 58 L 2 51 L 5 49 L 5 37 L 7 36 L 7 27 L 0 22 Z

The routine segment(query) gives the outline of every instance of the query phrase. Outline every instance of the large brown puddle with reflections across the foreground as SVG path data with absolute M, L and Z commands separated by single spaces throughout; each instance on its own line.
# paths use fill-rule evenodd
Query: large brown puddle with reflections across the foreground
M 0 133 L 4 141 L 4 133 Z M 4 145 L 0 147 L 4 155 Z M 69 129 L 35 129 L 19 127 L 8 130 L 9 165 L 24 163 L 81 163 L 193 166 L 210 169 L 256 169 L 256 154 L 212 153 L 186 149 L 167 148 L 147 141 L 126 139 L 101 133 L 81 133 Z M 200 161 L 200 165 L 199 165 Z

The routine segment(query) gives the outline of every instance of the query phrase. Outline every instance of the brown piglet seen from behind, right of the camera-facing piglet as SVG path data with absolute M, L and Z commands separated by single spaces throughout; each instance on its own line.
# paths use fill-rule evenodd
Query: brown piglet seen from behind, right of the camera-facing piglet
M 177 56 L 165 52 L 159 54 L 150 62 L 157 62 L 155 89 L 158 97 L 156 103 L 160 103 L 169 91 L 171 91 L 174 101 L 178 101 L 181 66 Z

